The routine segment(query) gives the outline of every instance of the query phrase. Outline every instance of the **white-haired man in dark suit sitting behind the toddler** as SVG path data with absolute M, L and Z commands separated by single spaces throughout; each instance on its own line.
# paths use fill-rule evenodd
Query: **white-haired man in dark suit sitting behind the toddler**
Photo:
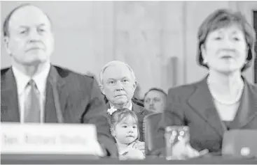
M 127 108 L 137 113 L 139 119 L 140 141 L 144 141 L 143 120 L 150 113 L 132 102 L 137 81 L 132 68 L 120 61 L 111 61 L 100 72 L 100 88 L 106 96 L 109 108 Z

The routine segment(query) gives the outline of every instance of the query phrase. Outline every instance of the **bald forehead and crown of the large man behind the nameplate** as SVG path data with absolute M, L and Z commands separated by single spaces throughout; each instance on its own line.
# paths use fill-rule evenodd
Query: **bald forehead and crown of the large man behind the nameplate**
M 9 27 L 20 26 L 50 26 L 50 20 L 43 11 L 35 6 L 23 6 L 13 13 L 9 21 Z

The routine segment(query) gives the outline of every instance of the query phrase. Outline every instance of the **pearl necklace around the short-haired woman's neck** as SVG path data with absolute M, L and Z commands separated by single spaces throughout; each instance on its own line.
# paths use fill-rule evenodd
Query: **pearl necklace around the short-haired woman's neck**
M 209 86 L 209 91 L 211 92 L 211 88 L 210 88 L 210 84 L 209 84 L 209 77 L 207 77 L 207 84 Z M 235 100 L 230 100 L 230 101 L 220 100 L 218 98 L 218 96 L 215 95 L 213 92 L 211 92 L 211 95 L 214 98 L 214 100 L 216 100 L 217 102 L 219 102 L 221 104 L 225 104 L 225 105 L 231 105 L 231 104 L 235 104 L 235 103 L 239 102 L 243 91 L 244 91 L 244 81 L 242 81 L 242 87 L 239 89 L 239 92 L 237 93 L 237 96 L 235 97 Z

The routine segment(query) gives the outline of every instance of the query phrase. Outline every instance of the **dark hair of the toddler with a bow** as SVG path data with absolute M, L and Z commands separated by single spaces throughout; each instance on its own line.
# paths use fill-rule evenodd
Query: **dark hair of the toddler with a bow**
M 114 129 L 117 125 L 117 123 L 120 123 L 121 120 L 124 118 L 127 118 L 128 116 L 131 116 L 135 122 L 139 123 L 139 120 L 137 118 L 137 114 L 134 113 L 134 111 L 131 111 L 130 109 L 122 108 L 122 109 L 117 109 L 117 111 L 114 111 L 112 114 L 108 113 L 109 116 L 109 123 L 111 126 L 111 129 Z M 138 130 L 138 136 L 137 139 L 139 139 L 139 129 Z

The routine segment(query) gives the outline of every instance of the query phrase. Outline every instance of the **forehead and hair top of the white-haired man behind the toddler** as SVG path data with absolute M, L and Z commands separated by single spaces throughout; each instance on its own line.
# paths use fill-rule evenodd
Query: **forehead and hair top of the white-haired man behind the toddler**
M 132 79 L 132 72 L 123 64 L 113 64 L 107 67 L 103 72 L 103 79 Z

